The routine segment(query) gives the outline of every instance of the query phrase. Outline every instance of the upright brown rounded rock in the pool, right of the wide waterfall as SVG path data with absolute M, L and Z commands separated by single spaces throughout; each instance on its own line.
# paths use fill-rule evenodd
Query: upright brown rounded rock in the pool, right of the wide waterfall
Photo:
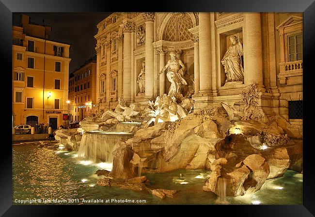
M 128 179 L 135 177 L 133 164 L 130 163 L 134 155 L 133 150 L 128 145 L 122 145 L 112 152 L 113 167 L 110 176 L 114 178 Z

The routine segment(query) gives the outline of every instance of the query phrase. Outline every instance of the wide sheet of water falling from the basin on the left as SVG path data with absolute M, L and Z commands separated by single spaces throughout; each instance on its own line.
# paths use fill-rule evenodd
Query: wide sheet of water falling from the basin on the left
M 112 163 L 112 152 L 118 141 L 131 138 L 131 134 L 117 132 L 84 132 L 80 143 L 78 157 L 94 162 Z

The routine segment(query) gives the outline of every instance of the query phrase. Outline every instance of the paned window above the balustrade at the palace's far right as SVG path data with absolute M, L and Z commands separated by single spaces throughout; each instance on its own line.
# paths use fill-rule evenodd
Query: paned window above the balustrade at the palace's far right
M 289 35 L 288 38 L 288 61 L 302 60 L 302 33 Z

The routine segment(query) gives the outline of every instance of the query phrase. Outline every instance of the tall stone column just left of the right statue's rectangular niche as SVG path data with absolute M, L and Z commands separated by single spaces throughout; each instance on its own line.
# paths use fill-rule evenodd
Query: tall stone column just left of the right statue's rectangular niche
M 200 91 L 211 93 L 211 42 L 210 42 L 210 13 L 199 13 L 199 66 L 200 66 Z

